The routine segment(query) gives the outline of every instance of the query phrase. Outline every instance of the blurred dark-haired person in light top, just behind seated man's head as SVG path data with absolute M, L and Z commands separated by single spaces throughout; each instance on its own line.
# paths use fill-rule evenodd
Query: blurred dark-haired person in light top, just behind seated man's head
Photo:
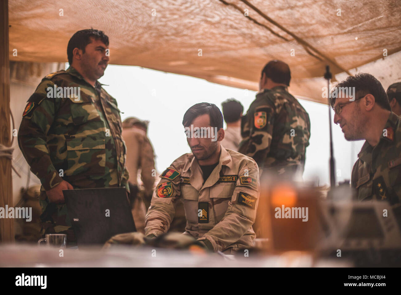
M 227 123 L 224 130 L 225 135 L 221 140 L 221 145 L 226 149 L 238 151 L 238 146 L 242 140 L 241 137 L 241 117 L 244 107 L 238 100 L 229 98 L 225 100 L 221 107 L 223 108 L 223 118 Z

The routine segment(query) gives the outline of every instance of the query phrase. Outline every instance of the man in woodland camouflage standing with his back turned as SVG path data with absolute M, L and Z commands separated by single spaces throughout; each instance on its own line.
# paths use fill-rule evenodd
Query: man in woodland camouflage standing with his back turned
M 260 175 L 263 172 L 293 179 L 304 171 L 310 121 L 298 100 L 288 93 L 290 79 L 286 63 L 267 63 L 261 73 L 260 91 L 242 117 L 239 152 L 256 161 Z

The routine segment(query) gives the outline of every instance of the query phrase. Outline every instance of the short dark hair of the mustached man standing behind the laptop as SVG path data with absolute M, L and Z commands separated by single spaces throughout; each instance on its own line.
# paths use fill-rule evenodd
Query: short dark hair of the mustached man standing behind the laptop
M 67 57 L 70 65 L 73 62 L 74 48 L 81 49 L 82 52 L 85 53 L 86 45 L 91 43 L 90 37 L 95 38 L 95 40 L 100 39 L 106 46 L 109 46 L 109 37 L 107 37 L 103 31 L 95 30 L 94 28 L 78 31 L 71 37 L 67 45 Z

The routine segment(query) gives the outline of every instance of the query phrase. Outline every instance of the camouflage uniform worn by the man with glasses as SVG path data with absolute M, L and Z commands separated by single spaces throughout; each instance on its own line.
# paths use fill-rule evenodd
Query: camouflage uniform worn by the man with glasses
M 391 112 L 383 130 L 377 146 L 363 144 L 352 169 L 351 186 L 359 201 L 388 201 L 401 225 L 401 118 Z

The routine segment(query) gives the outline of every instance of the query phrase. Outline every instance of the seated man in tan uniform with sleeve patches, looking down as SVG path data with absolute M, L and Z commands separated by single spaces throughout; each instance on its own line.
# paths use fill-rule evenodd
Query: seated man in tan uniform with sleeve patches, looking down
M 190 107 L 182 124 L 192 153 L 176 159 L 160 175 L 146 215 L 146 236 L 167 232 L 181 199 L 186 216 L 184 234 L 225 254 L 252 246 L 259 199 L 257 164 L 221 146 L 223 115 L 215 104 Z

